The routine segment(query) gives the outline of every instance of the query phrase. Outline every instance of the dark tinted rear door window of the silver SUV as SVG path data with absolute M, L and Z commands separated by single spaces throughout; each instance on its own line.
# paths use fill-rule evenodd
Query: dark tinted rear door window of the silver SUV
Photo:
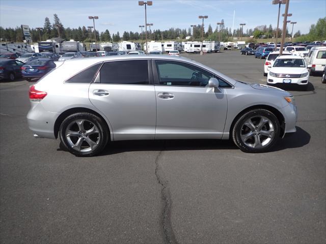
M 147 60 L 123 60 L 104 63 L 100 83 L 148 85 Z

